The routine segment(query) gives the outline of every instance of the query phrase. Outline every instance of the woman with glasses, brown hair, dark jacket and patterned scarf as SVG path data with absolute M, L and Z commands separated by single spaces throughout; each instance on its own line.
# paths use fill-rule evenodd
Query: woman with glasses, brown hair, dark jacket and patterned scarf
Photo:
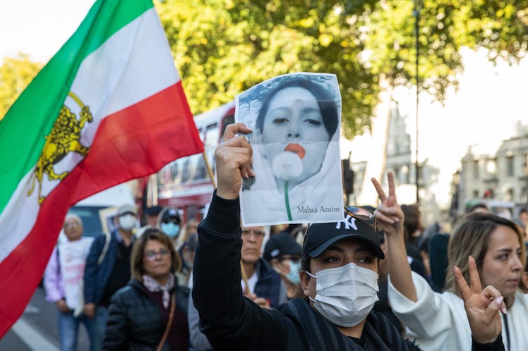
M 171 238 L 145 230 L 133 245 L 131 281 L 110 302 L 104 350 L 188 350 L 188 291 L 174 278 L 180 266 Z

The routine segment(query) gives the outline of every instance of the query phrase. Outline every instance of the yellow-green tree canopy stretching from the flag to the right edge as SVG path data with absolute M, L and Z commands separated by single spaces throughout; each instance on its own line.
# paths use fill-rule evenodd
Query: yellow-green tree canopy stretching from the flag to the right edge
M 340 82 L 344 135 L 353 137 L 370 128 L 380 85 L 414 85 L 415 5 L 420 87 L 440 101 L 463 69 L 460 47 L 485 47 L 491 59 L 512 62 L 527 49 L 527 0 L 415 1 L 166 0 L 157 7 L 193 113 L 275 75 L 329 72 Z

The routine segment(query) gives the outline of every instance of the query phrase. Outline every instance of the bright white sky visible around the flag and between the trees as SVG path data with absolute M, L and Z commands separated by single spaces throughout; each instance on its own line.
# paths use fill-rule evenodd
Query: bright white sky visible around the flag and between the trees
M 32 61 L 47 62 L 75 32 L 94 2 L 0 1 L 0 61 L 22 51 Z M 452 173 L 460 167 L 460 158 L 469 145 L 481 144 L 492 152 L 500 141 L 514 135 L 518 121 L 528 124 L 528 60 L 520 65 L 493 66 L 483 51 L 466 49 L 462 54 L 465 69 L 459 77 L 460 90 L 451 91 L 444 105 L 427 96 L 420 97 L 419 103 L 419 159 L 428 159 L 440 168 L 438 194 L 446 202 Z M 407 132 L 414 148 L 414 92 L 400 92 L 397 98 L 401 113 L 408 115 Z M 342 141 L 342 158 L 352 150 L 352 161 L 364 161 L 371 155 L 361 150 L 372 149 L 372 143 L 376 140 L 371 135 Z

